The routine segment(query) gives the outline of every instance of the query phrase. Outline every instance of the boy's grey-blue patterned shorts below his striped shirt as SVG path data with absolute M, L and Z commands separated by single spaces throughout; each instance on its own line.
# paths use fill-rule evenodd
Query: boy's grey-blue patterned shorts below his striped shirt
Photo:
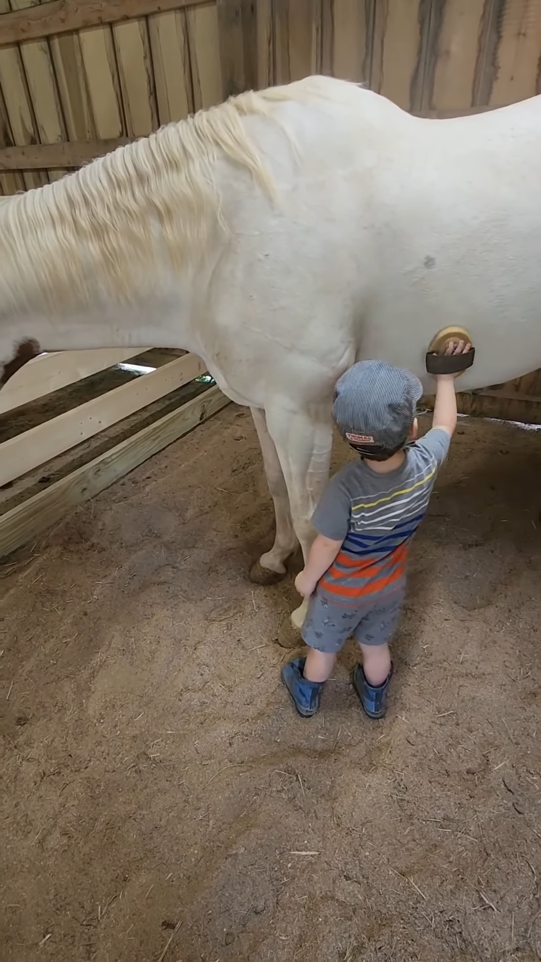
M 356 606 L 340 605 L 317 588 L 302 624 L 302 640 L 326 654 L 338 653 L 351 637 L 360 645 L 387 645 L 397 630 L 403 600 L 401 588 Z

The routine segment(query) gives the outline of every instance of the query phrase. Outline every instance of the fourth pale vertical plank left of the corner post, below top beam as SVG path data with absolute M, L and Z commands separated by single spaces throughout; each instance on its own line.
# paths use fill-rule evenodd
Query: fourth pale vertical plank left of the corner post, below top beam
M 97 138 L 124 137 L 126 126 L 111 27 L 79 34 L 81 58 Z

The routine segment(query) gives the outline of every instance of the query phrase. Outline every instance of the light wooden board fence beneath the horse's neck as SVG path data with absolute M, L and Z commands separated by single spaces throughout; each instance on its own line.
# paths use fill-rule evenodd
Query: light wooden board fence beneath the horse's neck
M 98 396 L 83 403 L 68 401 L 65 392 L 70 385 L 113 370 L 135 353 L 123 349 L 42 355 L 17 371 L 0 392 L 0 428 L 8 413 L 13 413 L 9 424 L 18 414 L 24 425 L 13 437 L 8 434 L 7 440 L 0 441 L 0 557 L 35 538 L 70 507 L 103 491 L 229 403 L 217 387 L 195 384 L 206 371 L 200 358 L 151 348 L 141 349 L 137 357 L 155 369 L 112 390 L 102 388 Z M 183 385 L 194 389 L 195 396 L 179 402 L 175 398 Z M 26 427 L 33 402 L 51 392 L 63 395 L 67 410 Z M 158 402 L 167 413 L 152 413 Z M 112 428 L 120 437 L 118 443 L 110 440 Z M 87 453 L 90 442 L 98 450 L 95 457 L 93 448 Z

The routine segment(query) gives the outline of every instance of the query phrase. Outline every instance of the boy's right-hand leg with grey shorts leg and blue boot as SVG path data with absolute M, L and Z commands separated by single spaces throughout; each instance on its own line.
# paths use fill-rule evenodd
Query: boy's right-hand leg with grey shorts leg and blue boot
M 383 718 L 387 707 L 387 691 L 393 674 L 389 642 L 397 630 L 402 603 L 403 592 L 380 598 L 354 632 L 363 661 L 353 671 L 353 688 L 372 719 Z

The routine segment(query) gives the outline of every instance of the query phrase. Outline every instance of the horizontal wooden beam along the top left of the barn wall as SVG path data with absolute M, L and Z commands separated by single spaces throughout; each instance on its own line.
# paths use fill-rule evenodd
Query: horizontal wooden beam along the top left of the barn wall
M 213 0 L 52 0 L 37 7 L 3 13 L 0 47 L 212 3 Z

